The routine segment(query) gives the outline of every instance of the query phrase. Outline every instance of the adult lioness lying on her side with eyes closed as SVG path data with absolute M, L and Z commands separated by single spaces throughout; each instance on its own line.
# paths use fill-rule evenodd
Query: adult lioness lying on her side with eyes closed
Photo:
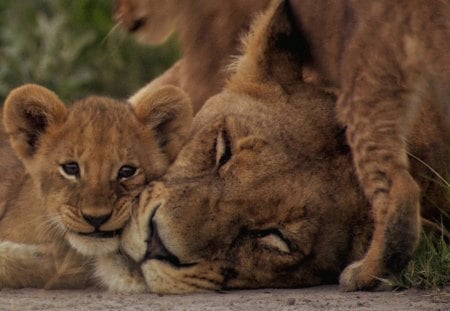
M 364 256 L 370 203 L 336 98 L 299 74 L 299 36 L 284 4 L 259 18 L 225 90 L 208 100 L 174 164 L 141 195 L 122 247 L 141 263 L 151 291 L 337 282 Z M 447 173 L 450 129 L 435 101 L 417 109 L 405 141 L 423 216 L 432 218 L 436 206 L 450 211 L 435 175 Z M 410 230 L 410 214 L 398 213 L 387 232 L 392 252 Z

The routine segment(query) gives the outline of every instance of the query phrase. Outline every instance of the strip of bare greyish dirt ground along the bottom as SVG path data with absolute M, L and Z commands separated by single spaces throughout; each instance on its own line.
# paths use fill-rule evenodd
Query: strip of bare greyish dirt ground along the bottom
M 91 290 L 3 289 L 0 310 L 417 310 L 450 311 L 442 291 L 343 293 L 337 286 L 249 290 L 182 296 Z

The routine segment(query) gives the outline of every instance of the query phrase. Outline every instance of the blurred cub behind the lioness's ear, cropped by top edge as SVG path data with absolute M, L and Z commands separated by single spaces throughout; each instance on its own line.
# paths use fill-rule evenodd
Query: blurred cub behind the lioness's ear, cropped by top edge
M 176 31 L 182 58 L 161 77 L 142 88 L 130 101 L 139 100 L 149 88 L 171 84 L 191 97 L 194 113 L 218 93 L 228 76 L 226 66 L 238 53 L 240 35 L 251 17 L 269 0 L 117 0 L 119 24 L 142 41 L 160 44 Z

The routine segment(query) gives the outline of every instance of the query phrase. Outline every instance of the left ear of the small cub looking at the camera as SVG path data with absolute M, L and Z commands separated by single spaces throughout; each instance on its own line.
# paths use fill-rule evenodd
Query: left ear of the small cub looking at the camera
M 3 108 L 3 123 L 11 145 L 24 160 L 34 156 L 48 128 L 62 124 L 66 117 L 67 108 L 58 96 L 35 84 L 12 90 Z

